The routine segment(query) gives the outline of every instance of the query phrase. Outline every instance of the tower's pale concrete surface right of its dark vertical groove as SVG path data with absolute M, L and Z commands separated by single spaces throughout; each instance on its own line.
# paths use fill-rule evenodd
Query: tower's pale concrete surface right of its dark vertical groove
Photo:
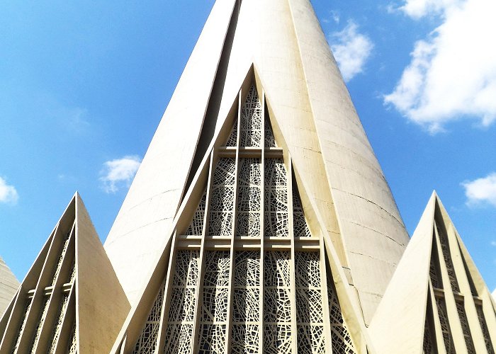
M 409 238 L 309 1 L 242 3 L 220 117 L 252 63 L 276 137 L 325 229 L 342 235 L 337 252 L 368 324 Z

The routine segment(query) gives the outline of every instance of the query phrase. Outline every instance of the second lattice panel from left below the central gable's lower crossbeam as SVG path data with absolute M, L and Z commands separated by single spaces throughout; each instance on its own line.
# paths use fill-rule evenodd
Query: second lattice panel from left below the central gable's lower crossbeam
M 164 353 L 187 353 L 193 345 L 193 318 L 199 258 L 200 251 L 198 250 L 176 252 Z

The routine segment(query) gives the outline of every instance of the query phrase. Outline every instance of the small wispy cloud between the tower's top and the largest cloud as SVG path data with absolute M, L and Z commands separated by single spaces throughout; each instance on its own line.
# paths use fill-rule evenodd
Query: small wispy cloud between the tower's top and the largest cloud
M 344 81 L 349 81 L 363 72 L 363 66 L 371 55 L 373 43 L 358 32 L 358 26 L 349 21 L 346 28 L 330 35 L 329 42 Z

